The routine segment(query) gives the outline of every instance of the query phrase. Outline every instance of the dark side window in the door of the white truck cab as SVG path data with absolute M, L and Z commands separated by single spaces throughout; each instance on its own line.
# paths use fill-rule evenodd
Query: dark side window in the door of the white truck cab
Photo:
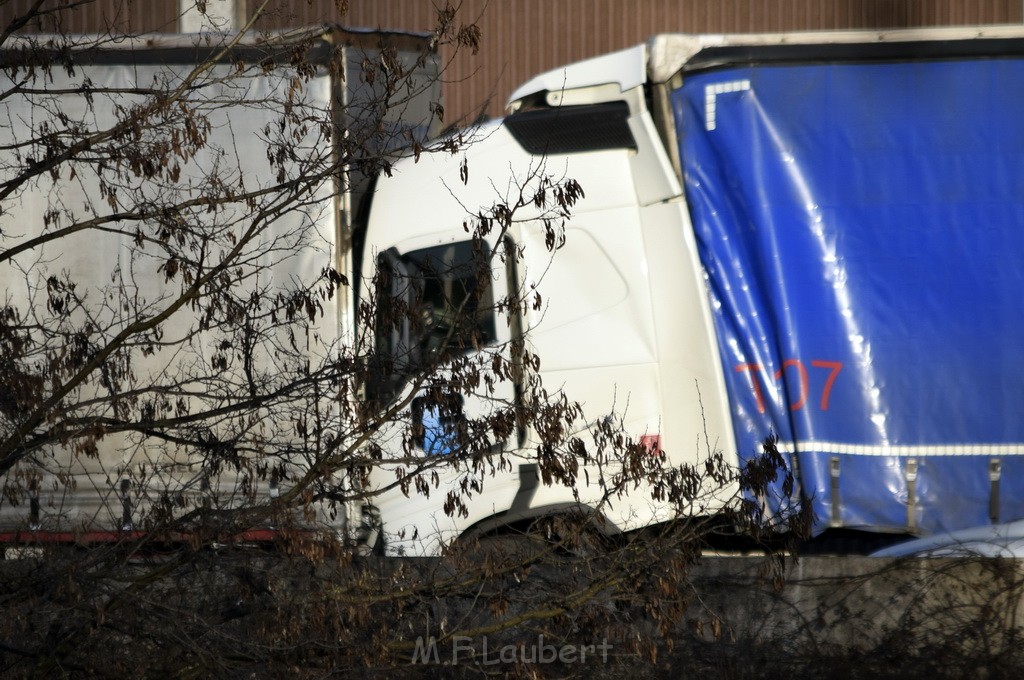
M 391 391 L 413 371 L 494 343 L 490 251 L 462 241 L 378 257 L 376 344 Z M 380 385 L 383 387 L 383 385 Z M 381 395 L 382 396 L 382 395 Z

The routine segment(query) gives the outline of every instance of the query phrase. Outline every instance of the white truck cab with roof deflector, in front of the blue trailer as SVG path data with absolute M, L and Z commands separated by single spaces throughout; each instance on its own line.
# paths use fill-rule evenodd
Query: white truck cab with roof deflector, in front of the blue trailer
M 515 213 L 507 232 L 483 238 L 484 250 L 513 245 L 521 253 L 515 262 L 493 258 L 489 300 L 513 293 L 539 303 L 502 313 L 486 310 L 492 317 L 479 322 L 485 342 L 466 346 L 463 356 L 489 365 L 489 355 L 507 354 L 521 334 L 526 350 L 540 359 L 537 375 L 545 389 L 564 393 L 583 409 L 580 429 L 567 436 L 593 448 L 588 429 L 603 419 L 621 419 L 625 432 L 650 455 L 664 455 L 669 465 L 696 464 L 710 451 L 731 453 L 734 447 L 682 189 L 647 111 L 645 60 L 645 48 L 638 47 L 540 76 L 513 95 L 514 113 L 473 129 L 471 143 L 459 153 L 397 163 L 377 184 L 362 261 L 390 262 L 413 278 L 445 279 L 423 263 L 465 265 L 473 237 L 464 224 L 496 204 L 515 205 L 540 177 L 574 180 L 585 196 L 554 239 L 560 247 L 551 248 L 544 209 L 532 205 Z M 421 289 L 445 285 L 431 281 L 422 281 Z M 436 307 L 432 313 L 438 315 Z M 379 347 L 416 343 L 399 334 L 389 328 L 381 339 L 378 329 Z M 523 389 L 515 381 L 466 394 L 462 415 L 486 418 L 510 407 Z M 412 396 L 411 389 L 394 386 L 390 396 Z M 423 418 L 412 407 L 409 417 Z M 592 510 L 609 533 L 676 512 L 643 485 L 605 499 L 599 479 L 608 469 L 582 459 L 574 484 L 544 483 L 536 435 L 527 428 L 488 442 L 488 455 L 504 457 L 504 465 L 440 466 L 436 476 L 427 473 L 429 495 L 407 495 L 394 486 L 399 472 L 414 469 L 417 456 L 427 462 L 452 452 L 441 447 L 438 453 L 428 436 L 414 441 L 411 456 L 398 454 L 392 433 L 392 452 L 401 463 L 382 466 L 371 479 L 373 491 L 380 492 L 371 502 L 383 522 L 386 552 L 437 554 L 467 530 L 489 530 L 570 507 Z M 386 457 L 387 442 L 382 450 Z M 449 492 L 461 493 L 467 479 L 473 480 L 472 493 L 460 513 L 445 499 Z M 694 499 L 688 514 L 714 514 L 734 492 L 717 491 Z

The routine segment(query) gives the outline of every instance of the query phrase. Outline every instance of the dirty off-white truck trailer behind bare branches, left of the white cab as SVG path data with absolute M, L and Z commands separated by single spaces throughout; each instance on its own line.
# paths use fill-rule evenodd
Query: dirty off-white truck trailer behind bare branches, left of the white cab
M 436 136 L 432 39 L 337 26 L 7 37 L 0 543 L 141 537 L 265 505 L 308 469 L 298 421 L 323 405 L 293 392 L 289 413 L 272 392 L 286 364 L 333 355 L 352 299 L 306 296 L 305 338 L 270 317 L 319 272 L 351 275 L 371 162 Z M 242 297 L 179 304 L 247 225 L 255 238 L 204 291 Z M 224 311 L 247 306 L 248 331 Z M 230 415 L 245 398 L 260 405 L 248 424 Z M 326 505 L 312 514 L 343 523 Z

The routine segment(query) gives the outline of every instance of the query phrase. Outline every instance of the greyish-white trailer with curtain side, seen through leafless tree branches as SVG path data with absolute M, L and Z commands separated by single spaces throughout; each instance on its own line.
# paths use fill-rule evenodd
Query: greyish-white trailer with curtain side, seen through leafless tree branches
M 65 47 L 69 44 L 84 47 Z M 145 210 L 150 199 L 153 205 L 186 206 L 189 201 L 226 197 L 228 190 L 255 196 L 260 187 L 281 184 L 288 173 L 331 167 L 341 144 L 348 141 L 364 144 L 367 158 L 387 154 L 398 144 L 424 141 L 436 134 L 432 128 L 438 123 L 434 115 L 440 93 L 438 66 L 432 55 L 428 35 L 332 27 L 241 36 L 229 45 L 211 43 L 207 34 L 123 40 L 11 38 L 0 52 L 0 89 L 6 93 L 0 101 L 4 186 L 25 172 L 27 157 L 30 164 L 34 154 L 35 160 L 45 160 L 50 151 L 43 147 L 50 135 L 57 144 L 61 138 L 79 143 L 91 135 L 95 154 L 94 158 L 80 154 L 54 173 L 20 183 L 16 195 L 6 197 L 0 215 L 0 248 L 5 251 L 0 277 L 3 306 L 13 315 L 5 317 L 5 327 L 45 332 L 62 311 L 52 307 L 52 300 L 63 295 L 77 305 L 61 322 L 65 331 L 68 325 L 79 325 L 83 351 L 88 353 L 133 323 L 163 313 L 184 284 L 171 268 L 175 263 L 165 261 L 159 239 L 148 238 L 148 228 L 173 216 L 144 217 L 136 231 L 122 228 L 135 223 L 137 215 L 128 213 Z M 387 65 L 392 73 L 399 69 L 403 73 L 401 91 L 386 101 L 384 79 L 366 73 L 381 68 L 381 57 L 393 59 Z M 51 68 L 45 69 L 46 62 Z M 177 166 L 173 169 L 135 172 L 133 164 L 144 165 L 150 159 L 119 160 L 117 148 L 104 146 L 109 131 L 130 120 L 133 108 L 161 105 L 161 97 L 174 99 L 173 105 L 193 108 L 194 122 L 173 128 L 170 120 L 176 112 L 171 111 L 162 127 L 161 115 L 152 115 L 140 119 L 138 139 L 148 139 L 154 150 L 166 143 L 185 151 L 171 155 Z M 306 114 L 305 121 L 298 118 Z M 286 125 L 286 117 L 292 115 Z M 275 135 L 286 129 L 293 136 L 279 143 Z M 189 135 L 202 137 L 194 148 Z M 286 150 L 292 159 L 268 157 L 273 148 Z M 92 172 L 89 163 L 106 164 L 106 170 L 123 164 L 124 172 L 115 173 L 120 181 L 112 182 L 110 174 L 103 179 L 101 172 Z M 273 296 L 326 267 L 352 278 L 351 224 L 366 185 L 361 170 L 348 167 L 318 182 L 304 180 L 311 187 L 308 195 L 280 210 L 268 206 L 279 214 L 237 258 L 239 277 L 245 278 L 238 285 L 253 295 Z M 169 177 L 170 172 L 175 175 Z M 182 214 L 187 214 L 179 218 L 195 220 L 190 227 L 211 233 L 216 229 L 242 233 L 245 220 L 260 219 L 255 206 L 262 200 L 232 204 L 228 197 L 208 215 L 183 208 Z M 16 209 L 6 208 L 15 205 Z M 118 211 L 126 213 L 124 220 L 105 219 L 81 228 L 90 219 Z M 50 238 L 56 233 L 62 236 Z M 351 304 L 344 294 L 325 303 L 312 325 L 315 341 L 306 339 L 311 362 L 323 359 L 349 333 Z M 133 340 L 139 343 L 131 368 L 135 392 L 115 393 L 97 370 L 91 387 L 76 391 L 74 411 L 61 416 L 68 431 L 51 437 L 56 443 L 19 453 L 14 465 L 5 460 L 0 541 L 116 539 L 153 526 L 150 520 L 161 503 L 185 512 L 204 505 L 239 507 L 283 493 L 287 481 L 257 469 L 259 452 L 252 461 L 242 460 L 243 456 L 211 472 L 203 463 L 206 454 L 195 448 L 174 447 L 173 438 L 148 436 L 144 428 L 119 431 L 116 425 L 118 408 L 146 408 L 138 399 L 152 400 L 147 417 L 160 420 L 171 413 L 180 416 L 188 402 L 197 409 L 199 402 L 233 402 L 239 394 L 232 392 L 246 392 L 243 374 L 250 380 L 253 374 L 272 376 L 282 359 L 269 348 L 284 338 L 267 335 L 264 348 L 252 354 L 256 368 L 242 367 L 217 344 L 215 328 L 203 330 L 205 323 L 200 310 L 185 305 L 160 326 L 159 339 L 150 338 L 151 347 L 142 348 L 142 340 Z M 42 357 L 44 352 L 26 354 L 32 355 Z M 209 368 L 218 362 L 219 382 L 213 380 L 216 371 Z M 8 376 L 13 368 L 25 375 L 46 375 L 45 367 L 28 364 L 5 365 L 5 371 Z M 176 376 L 180 383 L 175 383 Z M 39 380 L 42 398 L 59 387 L 57 378 L 52 384 L 46 380 Z M 3 429 L 8 437 L 26 427 L 15 382 L 8 379 L 3 397 L 7 407 Z M 177 388 L 172 387 L 175 384 Z M 253 413 L 257 421 L 266 417 L 265 410 Z M 238 424 L 225 425 L 224 432 L 216 424 L 212 427 L 210 437 L 246 437 Z M 262 428 L 263 437 L 284 441 L 295 436 L 287 423 L 254 422 L 252 427 Z M 30 427 L 24 434 L 30 440 L 34 430 Z M 301 461 L 297 456 L 288 467 L 301 468 Z M 331 521 L 343 520 L 344 516 Z

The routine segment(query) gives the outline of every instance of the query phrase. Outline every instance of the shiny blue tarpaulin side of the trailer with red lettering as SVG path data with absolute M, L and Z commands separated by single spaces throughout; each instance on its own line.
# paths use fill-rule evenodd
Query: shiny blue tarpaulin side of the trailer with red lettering
M 740 460 L 776 434 L 819 532 L 1024 517 L 1022 84 L 972 56 L 672 92 Z

